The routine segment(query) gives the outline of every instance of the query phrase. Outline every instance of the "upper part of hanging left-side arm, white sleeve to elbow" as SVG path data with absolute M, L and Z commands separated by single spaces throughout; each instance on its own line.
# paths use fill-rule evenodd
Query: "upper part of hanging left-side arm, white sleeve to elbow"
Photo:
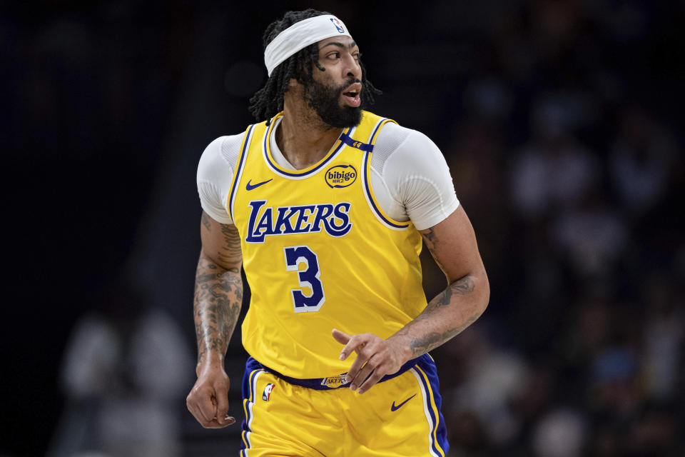
M 202 255 L 225 270 L 240 271 L 243 253 L 240 251 L 240 235 L 233 224 L 221 224 L 202 212 L 200 224 Z

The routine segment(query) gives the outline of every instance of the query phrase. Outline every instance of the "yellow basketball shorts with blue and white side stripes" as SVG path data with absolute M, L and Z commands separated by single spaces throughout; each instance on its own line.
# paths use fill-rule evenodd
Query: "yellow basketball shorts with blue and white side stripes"
M 445 457 L 435 362 L 421 356 L 398 373 L 359 394 L 349 384 L 293 380 L 248 358 L 240 456 Z

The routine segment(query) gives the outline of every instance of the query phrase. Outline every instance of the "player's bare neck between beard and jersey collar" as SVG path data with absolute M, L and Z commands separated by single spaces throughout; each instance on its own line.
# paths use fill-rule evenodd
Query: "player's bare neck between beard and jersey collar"
M 283 119 L 275 131 L 278 149 L 290 165 L 301 170 L 328 154 L 342 129 L 325 124 L 308 106 L 285 104 Z

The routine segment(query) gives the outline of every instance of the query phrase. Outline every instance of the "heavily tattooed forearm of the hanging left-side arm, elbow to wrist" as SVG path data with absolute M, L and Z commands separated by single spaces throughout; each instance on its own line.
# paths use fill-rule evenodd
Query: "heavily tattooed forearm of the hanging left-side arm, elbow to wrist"
M 193 304 L 198 366 L 203 363 L 223 363 L 242 301 L 240 267 L 223 268 L 201 253 Z

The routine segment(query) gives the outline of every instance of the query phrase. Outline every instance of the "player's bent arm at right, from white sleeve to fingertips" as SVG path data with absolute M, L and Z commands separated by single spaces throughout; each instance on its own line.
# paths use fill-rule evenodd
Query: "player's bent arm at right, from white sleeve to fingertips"
M 359 393 L 367 391 L 385 374 L 397 372 L 410 359 L 461 333 L 487 307 L 489 283 L 464 209 L 460 206 L 445 221 L 421 231 L 421 234 L 447 276 L 449 285 L 445 291 L 387 340 L 372 333 L 347 335 L 333 331 L 333 337 L 345 344 L 340 353 L 342 360 L 353 351 L 357 353 L 347 372 L 347 380 L 352 382 L 352 390 L 359 388 Z

